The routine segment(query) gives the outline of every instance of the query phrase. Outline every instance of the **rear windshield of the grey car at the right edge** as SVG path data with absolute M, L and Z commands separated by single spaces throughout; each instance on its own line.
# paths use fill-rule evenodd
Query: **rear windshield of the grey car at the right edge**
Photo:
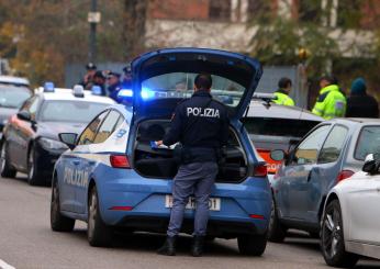
M 368 154 L 380 153 L 380 126 L 362 127 L 354 157 L 365 160 Z

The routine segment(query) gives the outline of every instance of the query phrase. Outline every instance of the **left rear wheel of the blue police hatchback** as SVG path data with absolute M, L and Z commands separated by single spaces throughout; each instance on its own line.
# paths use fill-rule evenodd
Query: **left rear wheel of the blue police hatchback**
M 105 225 L 100 216 L 97 188 L 90 191 L 88 201 L 87 238 L 90 246 L 110 247 L 112 245 L 113 231 Z

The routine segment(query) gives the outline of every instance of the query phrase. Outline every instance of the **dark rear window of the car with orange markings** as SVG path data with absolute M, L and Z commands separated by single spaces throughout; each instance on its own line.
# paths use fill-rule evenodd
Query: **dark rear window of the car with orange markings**
M 260 136 L 302 138 L 318 122 L 273 117 L 244 117 L 242 122 L 252 139 Z

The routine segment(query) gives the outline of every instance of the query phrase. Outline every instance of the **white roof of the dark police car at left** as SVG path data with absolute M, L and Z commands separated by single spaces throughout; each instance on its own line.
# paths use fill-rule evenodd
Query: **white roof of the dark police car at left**
M 101 97 L 92 94 L 91 91 L 85 90 L 85 97 L 76 97 L 72 89 L 55 88 L 53 92 L 46 92 L 41 87 L 37 89 L 37 94 L 42 94 L 45 100 L 57 100 L 57 101 L 81 101 L 81 102 L 97 102 L 97 103 L 108 103 L 114 104 L 109 97 Z

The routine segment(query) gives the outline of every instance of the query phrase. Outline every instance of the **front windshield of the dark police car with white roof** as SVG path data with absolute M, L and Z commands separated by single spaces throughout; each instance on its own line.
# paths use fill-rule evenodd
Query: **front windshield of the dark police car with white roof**
M 43 122 L 90 122 L 109 104 L 85 101 L 45 101 L 40 120 Z

